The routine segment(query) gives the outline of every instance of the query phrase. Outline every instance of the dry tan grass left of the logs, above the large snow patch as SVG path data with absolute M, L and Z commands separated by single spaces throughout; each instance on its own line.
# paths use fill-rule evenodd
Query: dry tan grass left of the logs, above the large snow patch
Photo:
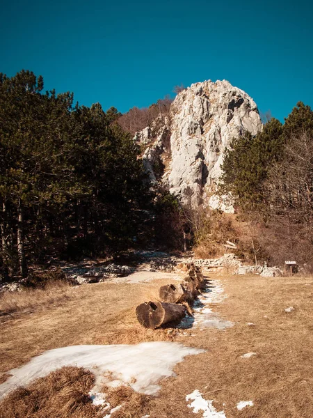
M 1 373 L 51 348 L 172 340 L 173 336 L 165 330 L 144 330 L 135 315 L 137 304 L 157 295 L 159 286 L 168 280 L 72 287 L 60 293 L 57 304 L 40 303 L 38 297 L 33 311 L 2 316 L 0 378 Z M 33 292 L 42 295 L 37 290 Z

